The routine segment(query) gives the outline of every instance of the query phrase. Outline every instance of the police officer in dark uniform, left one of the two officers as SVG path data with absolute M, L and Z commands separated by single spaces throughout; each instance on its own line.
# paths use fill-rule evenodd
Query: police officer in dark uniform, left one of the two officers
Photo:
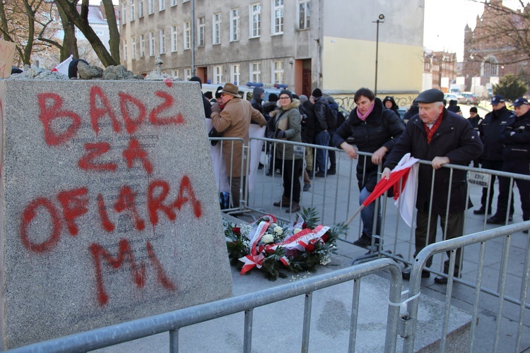
M 513 115 L 511 110 L 506 108 L 506 102 L 504 97 L 500 95 L 494 95 L 491 98 L 492 112 L 485 115 L 483 121 L 478 125 L 478 135 L 484 145 L 484 152 L 481 157 L 481 164 L 483 169 L 502 169 L 502 143 L 499 142 L 500 133 L 505 128 L 510 117 Z M 488 197 L 488 188 L 482 189 L 481 208 L 474 210 L 475 215 L 484 215 L 486 213 L 486 206 L 488 206 L 488 215 L 491 215 L 491 203 L 493 201 L 493 185 L 495 184 L 495 175 L 491 176 L 490 194 Z M 512 203 L 510 205 L 510 217 L 514 213 L 514 198 L 512 196 Z M 497 202 L 500 204 L 500 201 Z M 500 215 L 498 212 L 496 215 Z M 502 217 L 490 217 L 493 220 L 488 219 L 488 223 L 504 223 L 506 214 Z M 498 220 L 497 220 L 498 219 Z

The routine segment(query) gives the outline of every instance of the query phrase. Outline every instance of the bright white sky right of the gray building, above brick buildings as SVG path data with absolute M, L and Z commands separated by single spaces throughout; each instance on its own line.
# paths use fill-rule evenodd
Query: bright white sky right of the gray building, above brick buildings
M 456 52 L 457 60 L 462 61 L 464 28 L 469 24 L 473 30 L 476 16 L 481 16 L 484 11 L 484 4 L 478 1 L 425 0 L 423 46 L 435 51 Z M 503 4 L 514 9 L 520 7 L 519 0 L 505 0 Z

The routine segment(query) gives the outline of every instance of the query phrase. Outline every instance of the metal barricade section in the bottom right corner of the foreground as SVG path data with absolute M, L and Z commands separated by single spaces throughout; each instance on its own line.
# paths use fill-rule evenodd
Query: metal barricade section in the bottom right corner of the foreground
M 510 276 L 510 242 L 512 241 L 512 234 L 522 232 L 530 228 L 530 221 L 521 222 L 516 225 L 507 225 L 496 229 L 485 230 L 475 234 L 468 234 L 464 237 L 440 241 L 435 244 L 426 246 L 416 256 L 416 261 L 413 263 L 411 269 L 411 280 L 408 292 L 409 301 L 407 303 L 406 316 L 401 318 L 399 333 L 404 337 L 404 352 L 414 352 L 414 341 L 416 337 L 416 325 L 418 320 L 418 305 L 419 294 L 421 291 L 421 272 L 423 266 L 430 256 L 437 253 L 444 253 L 450 251 L 449 256 L 449 278 L 445 292 L 444 307 L 440 309 L 440 314 L 443 316 L 442 327 L 440 327 L 440 352 L 446 352 L 447 344 L 447 326 L 449 323 L 449 313 L 452 308 L 453 291 L 463 292 L 464 288 L 456 287 L 454 284 L 458 282 L 460 285 L 466 285 L 469 289 L 469 305 L 468 311 L 472 313 L 471 328 L 469 334 L 468 347 L 461 347 L 461 351 L 476 352 L 474 346 L 477 340 L 488 340 L 491 348 L 489 352 L 522 352 L 522 349 L 528 347 L 529 333 L 528 325 L 529 319 L 525 313 L 528 314 L 530 304 L 528 300 L 528 280 L 530 270 L 530 238 L 526 237 L 526 253 L 524 253 L 524 265 L 521 271 L 521 281 L 519 282 L 519 295 L 517 297 L 510 297 L 509 288 L 514 287 L 513 276 Z M 491 241 L 501 239 L 502 245 L 502 262 L 498 268 L 500 276 L 500 286 L 496 290 L 484 287 L 485 277 L 490 275 L 488 273 L 487 262 L 487 244 Z M 455 253 L 457 249 L 464 249 L 468 246 L 479 246 L 478 249 L 478 263 L 476 268 L 476 275 L 473 281 L 459 280 L 454 277 L 455 268 Z M 520 268 L 519 268 L 520 270 Z M 517 294 L 517 291 L 516 291 Z M 512 306 L 508 308 L 508 306 Z M 481 334 L 477 334 L 477 330 L 482 326 L 487 326 L 484 320 L 478 320 L 479 314 L 484 318 L 484 311 L 490 311 L 495 316 L 492 320 L 490 328 L 482 330 Z M 491 314 L 488 314 L 491 315 Z M 482 321 L 482 322 L 481 322 Z M 504 328 L 506 331 L 511 331 L 510 337 L 502 337 L 502 325 L 510 326 Z M 495 335 L 493 335 L 495 333 Z M 526 338 L 526 342 L 522 346 L 522 339 Z M 502 340 L 504 339 L 504 340 Z M 483 342 L 482 342 L 483 344 Z

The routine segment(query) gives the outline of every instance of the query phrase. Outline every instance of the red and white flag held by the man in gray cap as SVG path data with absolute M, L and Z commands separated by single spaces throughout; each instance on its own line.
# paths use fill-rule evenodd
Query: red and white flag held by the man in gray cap
M 411 157 L 410 153 L 401 158 L 396 167 L 390 172 L 389 179 L 381 179 L 375 185 L 374 191 L 366 198 L 360 208 L 353 213 L 346 222 L 348 225 L 363 208 L 370 205 L 376 198 L 394 186 L 395 205 L 399 207 L 401 217 L 411 227 L 412 215 L 414 213 L 414 196 L 416 193 L 416 169 L 418 158 Z M 411 174 L 412 172 L 412 174 Z M 402 197 L 400 197 L 402 196 Z

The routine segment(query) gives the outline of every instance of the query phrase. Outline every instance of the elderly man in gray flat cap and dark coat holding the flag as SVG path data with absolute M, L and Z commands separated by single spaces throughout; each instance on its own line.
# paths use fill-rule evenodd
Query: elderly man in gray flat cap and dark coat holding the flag
M 418 191 L 416 196 L 416 256 L 426 245 L 436 241 L 436 224 L 440 225 L 444 239 L 460 237 L 464 234 L 465 210 L 468 208 L 466 171 L 442 168 L 451 163 L 468 165 L 481 156 L 482 143 L 476 131 L 462 116 L 444 108 L 444 93 L 441 90 L 425 90 L 418 95 L 416 102 L 420 107 L 418 115 L 413 116 L 401 138 L 389 153 L 384 163 L 383 178 L 390 175 L 401 157 L 410 152 L 412 157 L 430 160 L 431 165 L 420 164 L 418 172 Z M 434 186 L 431 190 L 432 174 Z M 449 184 L 451 189 L 449 189 Z M 432 199 L 431 199 L 432 195 Z M 447 213 L 447 201 L 449 213 Z M 449 256 L 449 253 L 447 254 Z M 426 265 L 430 267 L 432 257 Z M 459 275 L 461 251 L 457 251 L 455 275 Z M 445 261 L 444 272 L 449 272 L 449 261 Z M 403 272 L 404 279 L 411 276 L 410 269 Z M 429 277 L 423 270 L 421 277 Z M 435 282 L 447 283 L 447 277 L 436 277 Z

